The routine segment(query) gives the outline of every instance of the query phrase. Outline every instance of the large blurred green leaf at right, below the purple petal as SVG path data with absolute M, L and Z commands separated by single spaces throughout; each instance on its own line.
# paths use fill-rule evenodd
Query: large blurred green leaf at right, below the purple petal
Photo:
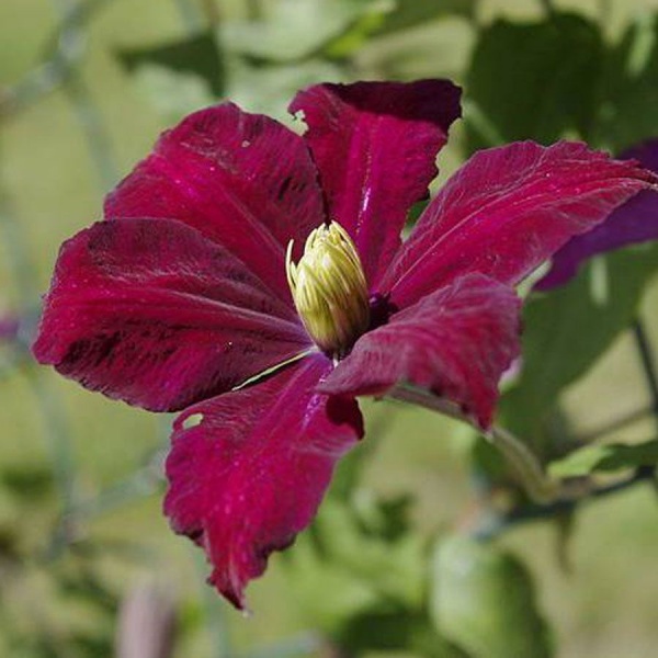
M 637 315 L 658 272 L 658 242 L 592 259 L 569 284 L 531 297 L 523 314 L 523 370 L 500 411 L 541 449 L 561 390 L 586 374 Z M 549 439 L 549 436 L 548 436 Z

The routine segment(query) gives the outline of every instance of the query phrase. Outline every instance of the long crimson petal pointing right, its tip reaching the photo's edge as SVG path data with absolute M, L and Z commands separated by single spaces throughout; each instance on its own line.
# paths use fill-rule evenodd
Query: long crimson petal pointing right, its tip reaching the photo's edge
M 658 178 L 585 144 L 479 151 L 423 213 L 382 283 L 398 307 L 466 272 L 515 285 Z

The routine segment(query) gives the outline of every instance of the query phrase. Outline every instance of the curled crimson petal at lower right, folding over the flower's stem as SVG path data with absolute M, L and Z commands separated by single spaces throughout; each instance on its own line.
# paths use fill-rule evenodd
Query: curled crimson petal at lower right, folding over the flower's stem
M 319 390 L 384 395 L 396 384 L 428 388 L 487 428 L 498 382 L 519 354 L 514 291 L 468 274 L 361 337 Z

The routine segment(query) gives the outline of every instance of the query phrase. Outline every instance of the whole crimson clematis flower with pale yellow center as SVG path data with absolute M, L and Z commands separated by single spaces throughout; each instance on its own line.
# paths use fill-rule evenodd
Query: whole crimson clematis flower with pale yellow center
M 36 358 L 183 410 L 164 511 L 236 606 L 363 434 L 355 398 L 413 385 L 481 428 L 519 351 L 513 286 L 656 178 L 582 144 L 474 156 L 429 204 L 460 114 L 443 80 L 319 84 L 303 136 L 227 103 L 164 133 L 61 248 Z

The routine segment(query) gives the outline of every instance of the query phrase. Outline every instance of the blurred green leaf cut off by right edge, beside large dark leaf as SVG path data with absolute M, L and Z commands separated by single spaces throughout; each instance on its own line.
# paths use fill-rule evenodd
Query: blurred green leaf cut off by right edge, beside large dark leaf
M 658 135 L 658 16 L 645 14 L 611 49 L 595 143 L 614 152 Z

